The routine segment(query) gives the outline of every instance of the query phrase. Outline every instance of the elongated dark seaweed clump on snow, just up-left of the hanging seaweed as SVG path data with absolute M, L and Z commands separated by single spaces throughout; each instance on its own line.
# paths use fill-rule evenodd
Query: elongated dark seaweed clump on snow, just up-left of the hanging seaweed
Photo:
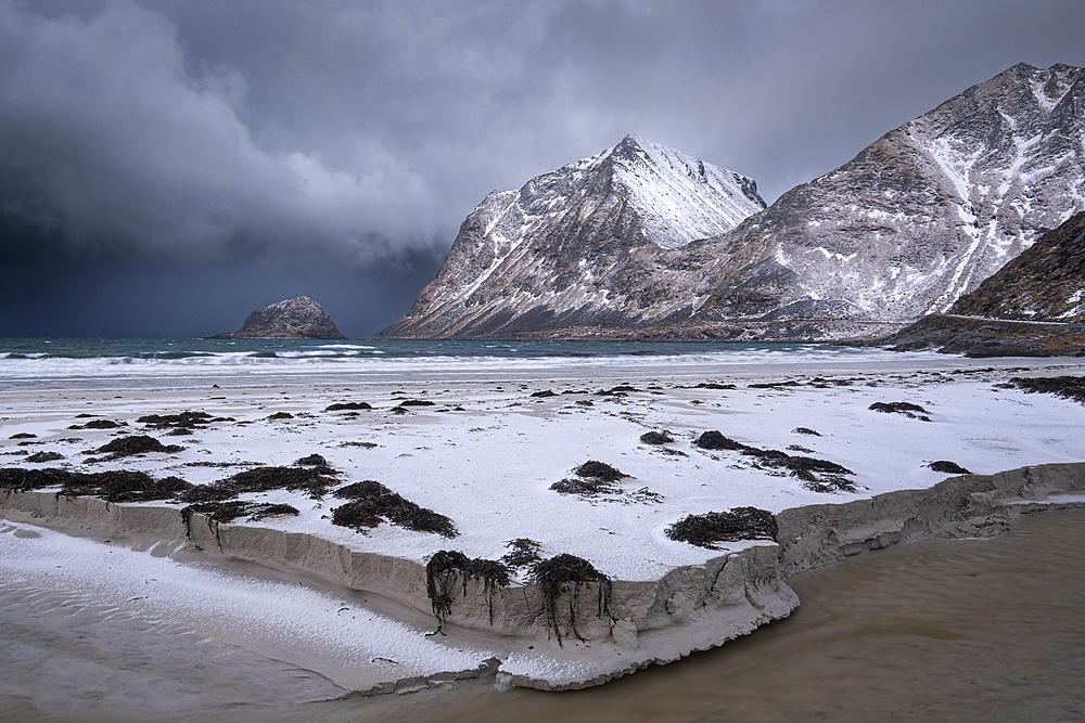
M 332 509 L 332 525 L 365 532 L 387 520 L 392 525 L 455 538 L 459 532 L 452 520 L 405 499 L 380 482 L 367 479 L 335 491 L 335 496 L 350 500 Z

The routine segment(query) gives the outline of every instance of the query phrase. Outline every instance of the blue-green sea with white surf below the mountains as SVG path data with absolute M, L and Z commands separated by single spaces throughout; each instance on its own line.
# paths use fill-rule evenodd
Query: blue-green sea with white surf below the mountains
M 509 374 L 860 371 L 967 366 L 932 352 L 827 344 L 485 340 L 0 339 L 0 391 L 308 386 Z M 986 361 L 988 365 L 991 362 Z

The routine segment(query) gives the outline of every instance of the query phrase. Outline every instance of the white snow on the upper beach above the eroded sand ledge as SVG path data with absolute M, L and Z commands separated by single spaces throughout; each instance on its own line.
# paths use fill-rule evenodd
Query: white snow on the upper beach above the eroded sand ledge
M 993 371 L 792 373 L 745 379 L 726 374 L 668 378 L 659 369 L 658 376 L 626 379 L 630 391 L 603 395 L 598 392 L 622 385 L 614 379 L 602 385 L 590 379 L 502 382 L 494 373 L 489 383 L 412 379 L 403 385 L 355 384 L 281 392 L 212 389 L 120 398 L 27 392 L 17 400 L 9 396 L 10 412 L 0 422 L 0 438 L 15 432 L 37 435 L 33 446 L 20 448 L 17 440 L 4 441 L 4 466 L 21 463 L 13 452 L 50 450 L 64 455 L 62 465 L 141 469 L 193 483 L 247 468 L 229 465 L 289 465 L 318 453 L 344 473 L 343 483 L 374 479 L 450 517 L 459 537 L 446 540 L 390 525 L 359 534 L 330 524 L 330 509 L 340 501 L 315 501 L 304 492 L 284 490 L 244 498 L 292 504 L 301 514 L 253 524 L 314 532 L 357 548 L 420 561 L 442 548 L 496 559 L 507 552 L 508 541 L 529 538 L 541 543 L 545 556 L 571 553 L 591 560 L 607 574 L 649 580 L 674 566 L 703 561 L 709 554 L 664 535 L 668 525 L 688 514 L 744 505 L 779 512 L 930 487 L 945 475 L 924 465 L 942 460 L 986 474 L 1083 459 L 1085 408 L 1047 395 L 998 388 L 995 385 L 1013 373 L 980 369 Z M 757 388 L 755 378 L 761 384 L 784 384 Z M 736 388 L 695 387 L 705 382 L 735 384 Z M 795 386 L 788 386 L 791 383 Z M 546 391 L 554 396 L 532 397 Z M 432 405 L 405 406 L 404 400 Z M 323 411 L 344 401 L 365 401 L 374 409 Z M 869 409 L 876 402 L 901 401 L 922 406 L 930 422 Z M 138 417 L 184 410 L 234 422 L 214 423 L 190 437 L 149 432 L 183 446 L 176 454 L 149 453 L 81 465 L 86 457 L 80 452 L 86 449 L 113 437 L 146 434 Z M 79 412 L 129 426 L 68 430 L 80 421 L 75 418 Z M 276 412 L 293 418 L 269 419 Z M 675 441 L 644 444 L 639 438 L 650 430 L 666 430 Z M 761 468 L 755 459 L 739 451 L 694 447 L 693 441 L 706 430 L 719 430 L 750 447 L 842 465 L 854 473 L 846 478 L 854 482 L 855 492 L 815 492 L 793 476 Z M 588 460 L 629 475 L 621 480 L 621 492 L 584 498 L 550 489 Z

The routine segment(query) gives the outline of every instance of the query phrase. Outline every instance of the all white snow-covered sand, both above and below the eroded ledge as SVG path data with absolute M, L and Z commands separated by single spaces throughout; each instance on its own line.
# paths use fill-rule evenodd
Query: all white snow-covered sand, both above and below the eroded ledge
M 733 543 L 712 551 L 667 539 L 667 526 L 689 514 L 745 505 L 778 513 L 929 488 L 947 476 L 926 466 L 934 461 L 952 461 L 979 474 L 1082 462 L 1085 406 L 1001 386 L 1014 375 L 1080 375 L 1082 367 L 1073 360 L 992 362 L 910 354 L 846 367 L 817 361 L 805 366 L 788 362 L 760 369 L 682 367 L 643 360 L 599 373 L 597 367 L 578 370 L 563 360 L 556 362 L 552 374 L 544 363 L 542 369 L 416 372 L 401 380 L 329 376 L 319 385 L 304 386 L 245 386 L 231 378 L 212 388 L 215 379 L 208 377 L 203 388 L 156 390 L 140 385 L 127 393 L 15 390 L 0 392 L 4 409 L 0 466 L 141 469 L 206 483 L 248 468 L 207 463 L 289 465 L 318 453 L 343 473 L 343 483 L 378 480 L 447 515 L 460 534 L 449 540 L 388 524 L 358 533 L 331 525 L 330 511 L 342 504 L 340 500 L 311 500 L 288 491 L 244 498 L 288 503 L 301 515 L 244 525 L 308 533 L 352 550 L 420 564 L 438 550 L 498 559 L 508 552 L 509 541 L 529 538 L 541 544 L 544 558 L 570 553 L 615 580 L 655 581 L 675 568 L 704 565 L 755 544 Z M 714 388 L 726 385 L 735 388 Z M 599 393 L 615 388 L 616 393 Z M 547 390 L 554 396 L 532 396 Z M 404 400 L 433 404 L 404 406 Z M 352 401 L 368 402 L 373 409 L 324 411 L 330 404 Z M 871 411 L 876 402 L 917 404 L 930 421 Z M 137 423 L 142 415 L 186 410 L 234 421 L 213 423 L 182 437 L 166 437 Z M 278 412 L 293 418 L 268 418 Z M 76 418 L 79 413 L 128 426 L 69 430 L 71 425 L 86 422 Z M 651 430 L 667 431 L 675 441 L 665 447 L 642 443 L 640 436 Z M 706 430 L 719 430 L 750 447 L 842 465 L 853 473 L 845 477 L 855 491 L 817 492 L 800 478 L 763 468 L 755 457 L 739 451 L 699 449 L 693 441 Z M 36 437 L 9 439 L 17 432 Z M 184 450 L 84 464 L 82 451 L 129 434 L 151 434 Z M 33 443 L 20 447 L 24 441 Z M 65 459 L 30 465 L 18 454 L 23 451 L 55 451 Z M 630 478 L 621 481 L 621 491 L 597 498 L 550 489 L 588 460 L 610 464 Z M 161 547 L 150 554 L 133 552 L 43 530 L 36 530 L 41 535 L 36 538 L 26 521 L 11 524 L 10 533 L 0 535 L 4 545 L 0 558 L 13 574 L 37 576 L 35 584 L 69 586 L 78 591 L 74 598 L 113 595 L 118 607 L 161 610 L 155 606 L 171 605 L 176 616 L 196 627 L 201 619 L 214 617 L 219 620 L 215 634 L 237 635 L 239 645 L 252 649 L 278 646 L 281 654 L 292 647 L 290 641 L 307 641 L 294 646 L 299 651 L 293 658 L 282 654 L 280 659 L 318 670 L 347 689 L 363 688 L 369 681 L 424 677 L 438 670 L 468 671 L 494 655 L 506 661 L 508 670 L 546 675 L 548 658 L 538 651 L 512 653 L 499 643 L 457 649 L 459 638 L 425 637 L 429 631 L 420 617 L 413 618 L 413 627 L 404 627 L 366 612 L 362 624 L 360 610 L 366 608 L 355 598 L 343 603 L 348 592 L 257 582 L 212 570 L 191 556 L 156 556 L 169 552 Z M 16 537 L 14 528 L 27 533 Z M 71 577 L 61 583 L 49 568 L 65 556 L 82 561 L 77 569 L 69 566 L 64 574 Z M 104 563 L 111 557 L 124 557 L 126 563 Z M 47 572 L 48 583 L 42 577 Z M 151 596 L 139 599 L 137 592 L 143 590 L 139 581 L 151 577 L 157 586 L 144 585 Z M 154 596 L 159 593 L 161 597 Z M 340 612 L 344 606 L 350 609 L 349 620 Z M 299 609 L 312 615 L 291 614 Z M 518 666 L 516 656 L 529 660 Z M 378 670 L 374 666 L 390 667 L 382 659 L 395 660 L 398 668 Z M 355 664 L 366 660 L 370 661 L 366 672 L 359 673 Z

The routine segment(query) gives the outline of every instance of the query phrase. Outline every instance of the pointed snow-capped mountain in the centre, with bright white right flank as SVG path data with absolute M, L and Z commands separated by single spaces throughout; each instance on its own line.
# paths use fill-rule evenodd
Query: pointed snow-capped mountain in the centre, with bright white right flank
M 660 287 L 642 262 L 764 207 L 753 180 L 628 135 L 486 196 L 437 277 L 381 334 L 502 336 L 658 318 L 687 305 L 688 289 Z

